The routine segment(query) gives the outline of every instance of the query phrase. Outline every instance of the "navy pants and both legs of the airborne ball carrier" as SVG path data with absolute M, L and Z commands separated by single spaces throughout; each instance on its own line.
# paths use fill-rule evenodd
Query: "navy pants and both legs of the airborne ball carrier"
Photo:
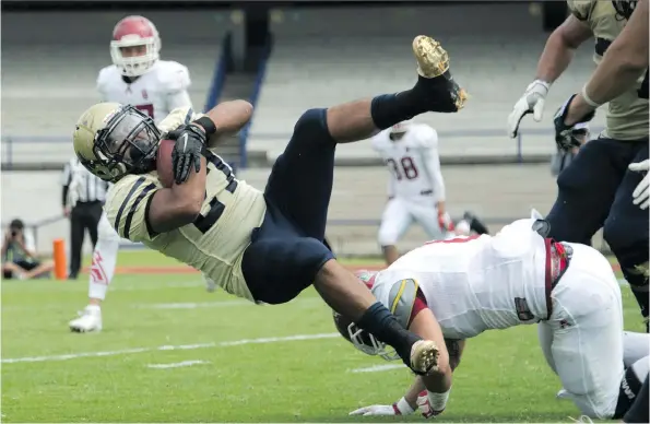
M 298 119 L 273 165 L 264 197 L 271 211 L 268 221 L 282 221 L 272 212 L 280 210 L 292 226 L 299 227 L 299 237 L 295 243 L 283 242 L 286 235 L 281 224 L 275 228 L 263 224 L 244 255 L 241 269 L 253 297 L 270 304 L 288 302 L 314 283 L 335 311 L 394 348 L 413 370 L 426 373 L 437 363 L 435 343 L 406 331 L 323 245 L 338 143 L 367 139 L 426 111 L 453 113 L 464 105 L 466 95 L 451 78 L 442 47 L 418 36 L 413 51 L 418 79 L 411 90 L 309 109 Z

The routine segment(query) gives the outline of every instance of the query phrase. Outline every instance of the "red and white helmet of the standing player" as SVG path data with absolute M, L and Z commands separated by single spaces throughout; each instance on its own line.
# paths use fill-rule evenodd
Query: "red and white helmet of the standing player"
M 142 46 L 143 51 L 127 54 L 122 48 Z M 126 76 L 140 76 L 158 60 L 161 37 L 155 25 L 144 16 L 127 16 L 115 25 L 110 57 Z

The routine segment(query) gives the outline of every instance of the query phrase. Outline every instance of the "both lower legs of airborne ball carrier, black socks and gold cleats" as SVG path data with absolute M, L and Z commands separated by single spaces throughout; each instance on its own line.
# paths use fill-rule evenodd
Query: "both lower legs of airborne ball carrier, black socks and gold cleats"
M 418 64 L 418 80 L 413 89 L 327 109 L 327 130 L 335 143 L 367 139 L 377 130 L 426 111 L 453 113 L 464 106 L 466 94 L 453 81 L 449 57 L 440 44 L 418 36 L 413 40 L 413 52 Z M 331 155 L 333 165 L 333 149 Z M 329 190 L 329 201 L 331 185 L 321 187 Z M 436 365 L 435 343 L 422 341 L 406 331 L 370 291 L 335 260 L 320 269 L 315 286 L 334 310 L 393 346 L 413 370 L 426 373 Z

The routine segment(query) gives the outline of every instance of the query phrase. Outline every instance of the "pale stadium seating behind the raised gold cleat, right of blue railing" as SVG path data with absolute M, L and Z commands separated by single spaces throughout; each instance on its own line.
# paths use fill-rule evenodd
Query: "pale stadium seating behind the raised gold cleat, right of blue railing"
M 363 17 L 359 17 L 363 16 Z M 442 155 L 512 154 L 505 133 L 513 102 L 534 78 L 547 34 L 528 4 L 299 10 L 276 14 L 275 46 L 257 105 L 249 151 L 277 155 L 295 120 L 322 107 L 412 86 L 414 35 L 430 34 L 450 54 L 456 79 L 472 96 L 458 115 L 418 120 L 440 132 Z M 580 49 L 569 71 L 554 85 L 543 123 L 524 129 L 549 131 L 555 108 L 581 87 L 593 69 L 592 47 Z M 596 125 L 599 121 L 596 120 Z M 524 137 L 524 153 L 551 153 L 544 136 Z M 368 144 L 345 145 L 341 156 L 368 156 Z

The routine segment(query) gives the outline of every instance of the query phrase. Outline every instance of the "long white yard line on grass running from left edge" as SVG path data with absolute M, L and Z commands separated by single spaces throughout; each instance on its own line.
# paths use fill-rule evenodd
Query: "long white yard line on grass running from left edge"
M 196 349 L 208 349 L 208 348 L 226 348 L 226 346 L 238 346 L 243 344 L 267 344 L 267 343 L 281 343 L 281 342 L 293 342 L 303 340 L 318 340 L 318 339 L 333 339 L 341 337 L 338 332 L 319 333 L 319 334 L 296 334 L 279 338 L 260 338 L 260 339 L 244 339 L 234 340 L 229 342 L 211 342 L 211 343 L 196 343 L 196 344 L 178 344 L 178 345 L 163 345 L 157 348 L 133 348 L 123 349 L 119 351 L 106 351 L 106 352 L 82 352 L 82 353 L 69 353 L 66 355 L 48 355 L 48 356 L 25 356 L 25 357 L 11 357 L 3 358 L 2 364 L 15 364 L 19 362 L 51 362 L 51 361 L 69 361 L 78 360 L 80 357 L 99 357 L 99 356 L 116 356 L 131 353 L 142 352 L 154 352 L 154 351 L 191 351 Z

